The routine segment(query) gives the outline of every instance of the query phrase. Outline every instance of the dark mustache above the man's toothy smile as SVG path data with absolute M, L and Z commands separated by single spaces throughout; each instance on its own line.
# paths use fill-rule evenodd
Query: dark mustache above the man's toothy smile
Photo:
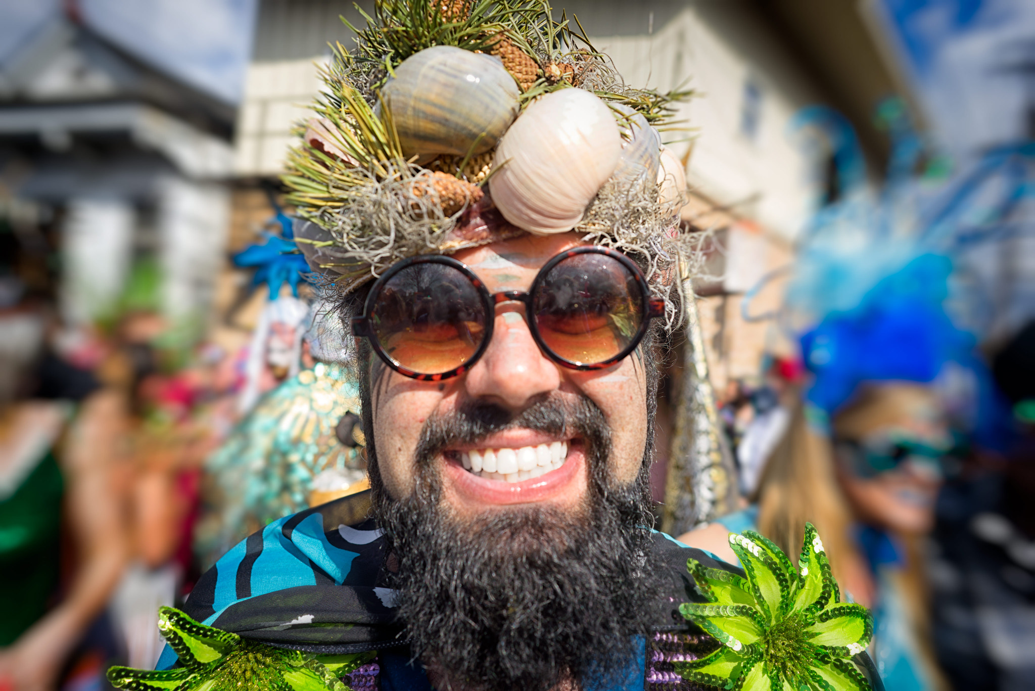
M 418 464 L 428 463 L 450 445 L 474 444 L 490 434 L 516 429 L 574 434 L 597 452 L 611 450 L 611 428 L 596 403 L 585 396 L 553 394 L 518 412 L 472 400 L 450 412 L 432 414 L 421 430 L 416 459 Z

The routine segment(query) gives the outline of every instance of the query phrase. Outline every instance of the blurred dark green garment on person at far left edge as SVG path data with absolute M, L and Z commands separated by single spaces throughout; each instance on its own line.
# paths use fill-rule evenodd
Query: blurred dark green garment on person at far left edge
M 64 481 L 48 451 L 10 496 L 0 499 L 0 646 L 47 612 L 58 586 Z

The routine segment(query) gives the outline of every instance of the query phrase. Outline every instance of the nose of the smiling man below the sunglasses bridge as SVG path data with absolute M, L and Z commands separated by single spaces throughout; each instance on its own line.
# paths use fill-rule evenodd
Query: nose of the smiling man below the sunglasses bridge
M 493 340 L 465 378 L 465 388 L 472 398 L 521 410 L 561 385 L 557 365 L 539 350 L 523 308 L 514 306 L 496 315 Z

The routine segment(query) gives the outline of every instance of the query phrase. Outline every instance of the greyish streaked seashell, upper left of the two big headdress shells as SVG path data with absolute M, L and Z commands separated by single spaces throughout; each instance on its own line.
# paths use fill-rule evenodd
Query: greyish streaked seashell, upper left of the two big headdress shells
M 463 156 L 475 142 L 475 155 L 489 151 L 518 117 L 520 95 L 499 58 L 452 46 L 411 55 L 381 90 L 406 155 Z

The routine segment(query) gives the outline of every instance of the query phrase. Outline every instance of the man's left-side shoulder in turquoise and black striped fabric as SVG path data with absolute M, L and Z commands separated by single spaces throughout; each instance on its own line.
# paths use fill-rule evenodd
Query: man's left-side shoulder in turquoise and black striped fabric
M 184 611 L 264 641 L 365 647 L 390 638 L 394 592 L 383 583 L 369 506 L 361 492 L 273 521 L 202 576 Z

